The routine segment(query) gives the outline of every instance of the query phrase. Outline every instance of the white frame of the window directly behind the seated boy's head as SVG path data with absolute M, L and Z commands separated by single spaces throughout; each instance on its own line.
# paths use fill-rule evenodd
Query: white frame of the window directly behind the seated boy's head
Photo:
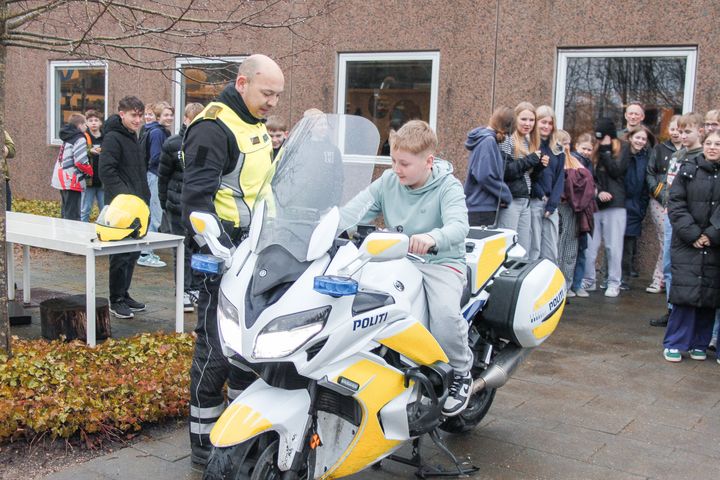
M 338 115 L 345 113 L 345 97 L 347 96 L 347 65 L 350 62 L 382 62 L 382 61 L 410 61 L 430 60 L 432 69 L 430 74 L 430 109 L 428 111 L 428 123 L 433 130 L 437 131 L 437 106 L 440 91 L 440 52 L 376 52 L 376 53 L 339 53 L 337 64 L 337 85 L 335 88 L 335 112 Z M 373 163 L 377 165 L 392 165 L 389 156 L 378 155 Z

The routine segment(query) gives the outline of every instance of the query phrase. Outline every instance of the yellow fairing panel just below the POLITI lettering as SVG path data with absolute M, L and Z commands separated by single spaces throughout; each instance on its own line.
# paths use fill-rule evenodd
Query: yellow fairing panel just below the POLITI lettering
M 414 318 L 389 325 L 375 340 L 420 365 L 448 361 L 435 337 Z

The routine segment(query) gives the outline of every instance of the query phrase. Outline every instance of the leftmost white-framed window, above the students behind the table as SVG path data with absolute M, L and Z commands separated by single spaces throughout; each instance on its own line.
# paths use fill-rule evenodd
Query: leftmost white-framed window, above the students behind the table
M 93 109 L 107 117 L 107 64 L 98 61 L 50 62 L 49 140 L 59 145 L 60 128 L 73 113 Z

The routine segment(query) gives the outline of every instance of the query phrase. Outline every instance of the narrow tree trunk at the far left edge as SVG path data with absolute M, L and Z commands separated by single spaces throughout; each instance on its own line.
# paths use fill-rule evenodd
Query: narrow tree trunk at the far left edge
M 5 37 L 7 18 L 7 1 L 0 0 L 0 37 Z M 0 42 L 0 136 L 5 144 L 5 62 L 7 60 L 7 47 Z M 0 150 L 2 150 L 0 148 Z M 5 244 L 5 182 L 0 178 L 0 353 L 9 355 L 10 349 L 10 317 L 7 309 L 7 256 Z

